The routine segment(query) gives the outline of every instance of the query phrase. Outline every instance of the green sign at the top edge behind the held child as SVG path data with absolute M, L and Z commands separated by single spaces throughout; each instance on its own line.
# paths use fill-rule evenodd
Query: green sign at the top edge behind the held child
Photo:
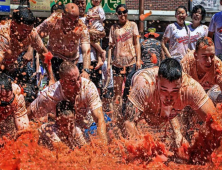
M 125 4 L 125 0 L 102 0 L 101 6 L 106 13 L 115 13 L 119 4 Z M 86 11 L 92 7 L 91 0 L 87 0 Z

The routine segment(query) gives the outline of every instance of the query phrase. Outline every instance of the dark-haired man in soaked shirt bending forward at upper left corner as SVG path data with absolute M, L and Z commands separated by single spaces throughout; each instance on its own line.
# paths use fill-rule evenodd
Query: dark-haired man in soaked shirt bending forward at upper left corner
M 15 62 L 18 56 L 28 50 L 31 45 L 44 61 L 44 53 L 48 50 L 42 43 L 36 30 L 33 28 L 35 17 L 32 11 L 26 7 L 19 7 L 13 12 L 12 20 L 0 25 L 0 64 L 1 69 L 13 75 Z M 27 54 L 28 55 L 28 54 Z M 32 59 L 32 50 L 30 51 Z M 47 70 L 51 70 L 50 66 Z M 50 74 L 51 73 L 51 74 Z M 50 83 L 54 82 L 52 71 L 48 71 Z

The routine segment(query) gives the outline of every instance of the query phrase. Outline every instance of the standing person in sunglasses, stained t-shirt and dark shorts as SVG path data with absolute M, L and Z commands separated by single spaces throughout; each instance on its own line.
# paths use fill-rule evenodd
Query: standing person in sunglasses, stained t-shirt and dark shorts
M 124 76 L 141 68 L 141 49 L 139 43 L 139 31 L 137 24 L 127 19 L 128 9 L 126 5 L 120 4 L 116 7 L 118 23 L 111 26 L 109 33 L 109 51 L 107 62 L 107 73 L 111 69 L 111 53 L 114 50 L 112 60 L 114 78 L 114 108 L 122 103 L 122 84 Z M 122 70 L 125 68 L 125 72 Z M 119 107 L 120 108 L 120 107 Z

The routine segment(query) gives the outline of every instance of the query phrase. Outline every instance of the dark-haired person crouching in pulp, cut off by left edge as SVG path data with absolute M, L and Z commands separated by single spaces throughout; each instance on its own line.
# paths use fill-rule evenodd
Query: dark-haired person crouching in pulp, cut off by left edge
M 9 118 L 11 116 L 11 119 Z M 12 118 L 13 117 L 13 118 Z M 14 120 L 12 120 L 14 119 Z M 14 123 L 13 123 L 14 121 Z M 13 134 L 15 127 L 22 131 L 29 127 L 25 99 L 20 87 L 9 76 L 0 73 L 0 136 Z

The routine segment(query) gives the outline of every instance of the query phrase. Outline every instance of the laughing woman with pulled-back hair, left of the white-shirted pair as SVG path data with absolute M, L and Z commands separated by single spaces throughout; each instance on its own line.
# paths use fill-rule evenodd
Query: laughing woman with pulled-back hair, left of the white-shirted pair
M 162 40 L 162 48 L 167 57 L 172 57 L 180 61 L 186 55 L 189 41 L 189 30 L 185 25 L 187 9 L 179 6 L 175 10 L 177 21 L 167 26 Z M 169 43 L 169 50 L 166 47 Z

